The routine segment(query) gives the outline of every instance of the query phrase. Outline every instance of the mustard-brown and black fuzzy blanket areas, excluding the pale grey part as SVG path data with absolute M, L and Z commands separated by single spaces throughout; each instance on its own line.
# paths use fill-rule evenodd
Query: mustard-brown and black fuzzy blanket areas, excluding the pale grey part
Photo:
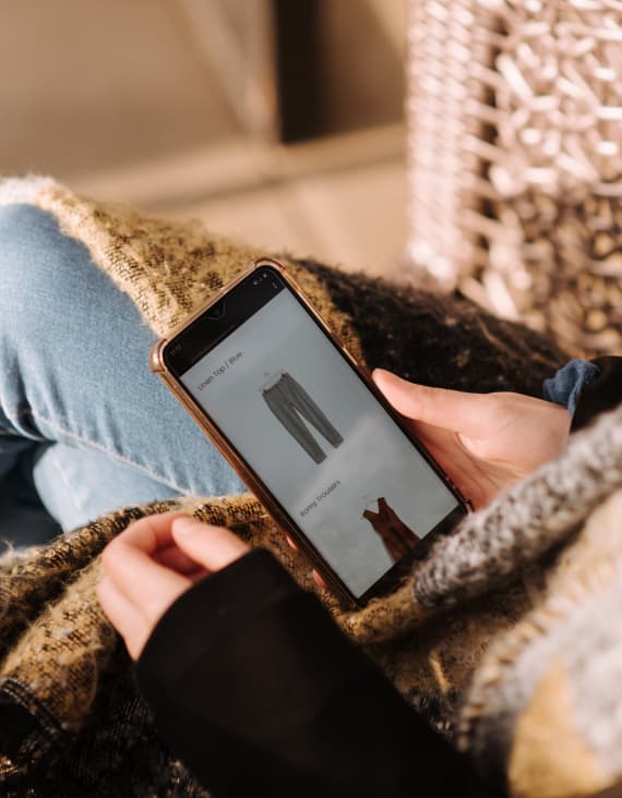
M 224 241 L 195 223 L 148 218 L 83 200 L 48 180 L 9 181 L 0 202 L 53 214 L 89 249 L 158 332 L 266 254 Z M 440 298 L 313 261 L 291 271 L 335 331 L 367 365 L 429 385 L 539 395 L 565 354 L 538 335 L 499 321 L 459 297 Z M 145 353 L 146 358 L 147 353 Z M 308 567 L 250 496 L 124 508 L 0 560 L 0 794 L 3 796 L 200 796 L 158 742 L 136 694 L 127 653 L 95 600 L 98 555 L 148 512 L 183 508 L 270 547 L 306 588 Z M 444 609 L 417 603 L 411 584 L 338 622 L 367 646 L 407 699 L 452 733 L 456 702 L 493 638 L 533 605 L 541 568 L 527 567 L 497 596 Z M 422 625 L 416 634 L 414 626 Z

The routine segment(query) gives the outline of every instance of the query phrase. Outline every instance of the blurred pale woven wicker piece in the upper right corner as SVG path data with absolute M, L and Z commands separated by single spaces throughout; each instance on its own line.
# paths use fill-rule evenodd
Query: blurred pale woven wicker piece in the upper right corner
M 410 0 L 416 281 L 622 350 L 622 2 Z

